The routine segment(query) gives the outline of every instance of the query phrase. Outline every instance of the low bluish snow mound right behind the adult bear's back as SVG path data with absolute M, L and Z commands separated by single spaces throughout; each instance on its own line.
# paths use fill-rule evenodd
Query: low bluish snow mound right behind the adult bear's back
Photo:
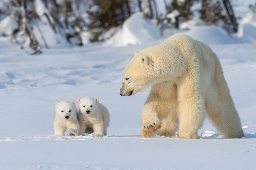
M 197 27 L 185 33 L 191 37 L 202 39 L 206 44 L 241 43 L 240 39 L 228 35 L 227 31 L 216 26 Z

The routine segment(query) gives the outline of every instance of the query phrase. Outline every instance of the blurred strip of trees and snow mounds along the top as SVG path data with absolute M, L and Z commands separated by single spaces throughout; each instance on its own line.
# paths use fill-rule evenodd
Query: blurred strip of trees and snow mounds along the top
M 209 25 L 199 32 L 248 42 L 255 39 L 244 32 L 252 28 L 241 24 L 255 26 L 255 15 L 255 0 L 0 0 L 0 36 L 31 54 L 93 42 L 135 45 Z

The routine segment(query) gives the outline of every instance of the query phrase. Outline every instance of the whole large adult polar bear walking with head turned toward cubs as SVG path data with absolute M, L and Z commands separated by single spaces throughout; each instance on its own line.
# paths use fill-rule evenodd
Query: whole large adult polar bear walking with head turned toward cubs
M 216 54 L 202 40 L 175 34 L 148 47 L 124 71 L 121 96 L 151 87 L 141 112 L 142 136 L 200 138 L 204 117 L 225 138 L 244 136 Z

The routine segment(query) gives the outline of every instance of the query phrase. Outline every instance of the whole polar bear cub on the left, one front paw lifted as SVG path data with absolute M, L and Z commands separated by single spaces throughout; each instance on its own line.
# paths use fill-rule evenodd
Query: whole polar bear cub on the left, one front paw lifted
M 75 101 L 55 102 L 54 134 L 63 136 L 68 129 L 69 135 L 77 135 L 79 127 Z

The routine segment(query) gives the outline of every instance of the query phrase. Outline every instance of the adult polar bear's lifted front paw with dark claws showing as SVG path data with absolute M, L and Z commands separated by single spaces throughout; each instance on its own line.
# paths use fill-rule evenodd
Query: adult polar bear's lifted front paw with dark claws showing
M 159 121 L 154 121 L 151 124 L 143 125 L 141 128 L 141 135 L 144 138 L 150 138 L 156 136 L 156 131 L 161 127 L 161 123 Z

